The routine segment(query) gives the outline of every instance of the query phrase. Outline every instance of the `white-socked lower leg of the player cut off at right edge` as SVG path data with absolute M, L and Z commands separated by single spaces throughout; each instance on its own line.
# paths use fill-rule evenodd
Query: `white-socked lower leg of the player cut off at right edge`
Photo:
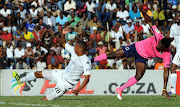
M 172 64 L 171 65 L 171 91 L 169 92 L 169 96 L 176 97 L 176 80 L 177 80 L 177 74 L 176 74 L 177 65 Z

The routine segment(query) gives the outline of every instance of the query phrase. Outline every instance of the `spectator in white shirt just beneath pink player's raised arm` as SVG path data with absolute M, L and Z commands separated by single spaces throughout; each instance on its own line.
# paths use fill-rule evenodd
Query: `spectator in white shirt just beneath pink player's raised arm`
M 150 26 L 149 26 L 149 24 L 146 23 L 144 18 L 142 18 L 142 25 L 141 26 L 143 27 L 143 38 L 146 39 L 148 34 L 149 34 Z

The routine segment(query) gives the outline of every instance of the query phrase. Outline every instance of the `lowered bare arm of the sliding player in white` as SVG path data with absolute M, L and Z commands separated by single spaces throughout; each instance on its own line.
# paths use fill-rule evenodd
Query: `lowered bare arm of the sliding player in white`
M 77 90 L 73 90 L 73 93 L 75 95 L 78 95 L 78 93 L 87 85 L 87 83 L 89 82 L 89 79 L 90 79 L 90 75 L 85 75 L 85 79 L 84 79 L 83 83 Z

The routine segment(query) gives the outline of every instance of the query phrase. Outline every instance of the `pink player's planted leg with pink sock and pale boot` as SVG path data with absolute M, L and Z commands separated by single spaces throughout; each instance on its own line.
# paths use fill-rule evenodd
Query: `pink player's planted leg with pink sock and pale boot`
M 122 91 L 135 83 L 137 83 L 144 75 L 146 70 L 146 64 L 137 62 L 136 63 L 136 75 L 131 77 L 124 85 L 116 89 L 117 98 L 122 100 Z

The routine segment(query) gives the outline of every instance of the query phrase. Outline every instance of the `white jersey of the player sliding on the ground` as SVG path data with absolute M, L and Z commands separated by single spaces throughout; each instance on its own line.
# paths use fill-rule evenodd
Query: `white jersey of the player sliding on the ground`
M 71 59 L 65 69 L 64 79 L 72 84 L 77 84 L 83 73 L 84 75 L 90 75 L 91 61 L 85 54 L 78 56 L 74 47 L 68 43 L 65 45 L 65 50 L 71 54 Z

